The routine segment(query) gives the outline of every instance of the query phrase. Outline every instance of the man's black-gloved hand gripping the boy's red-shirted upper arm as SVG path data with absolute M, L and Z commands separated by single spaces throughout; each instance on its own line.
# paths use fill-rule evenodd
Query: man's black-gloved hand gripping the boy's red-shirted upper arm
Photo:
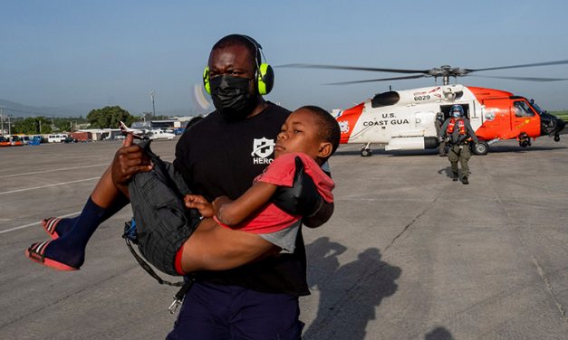
M 323 198 L 312 177 L 303 171 L 303 162 L 298 156 L 295 157 L 295 165 L 294 184 L 290 188 L 278 187 L 272 202 L 286 213 L 311 217 L 322 208 Z

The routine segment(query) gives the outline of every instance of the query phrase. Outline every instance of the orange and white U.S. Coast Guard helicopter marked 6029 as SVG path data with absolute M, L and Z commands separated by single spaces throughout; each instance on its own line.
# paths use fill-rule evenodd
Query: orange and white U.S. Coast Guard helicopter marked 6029
M 342 130 L 341 143 L 363 144 L 361 156 L 371 156 L 371 144 L 385 145 L 385 150 L 418 150 L 438 147 L 435 119 L 438 112 L 444 118 L 454 104 L 464 108 L 479 143 L 472 146 L 476 155 L 486 155 L 489 145 L 500 140 L 513 139 L 519 145 L 531 145 L 531 138 L 549 136 L 560 140 L 559 133 L 566 123 L 532 99 L 515 96 L 505 90 L 449 84 L 449 77 L 466 76 L 474 71 L 493 71 L 523 67 L 566 64 L 566 61 L 548 61 L 524 65 L 486 69 L 461 69 L 448 65 L 430 70 L 377 69 L 353 66 L 317 64 L 288 64 L 282 67 L 355 71 L 384 71 L 419 73 L 403 77 L 335 82 L 332 85 L 353 84 L 382 80 L 405 80 L 423 77 L 441 78 L 443 85 L 413 90 L 390 90 L 379 93 L 351 109 L 333 112 Z M 554 81 L 559 78 L 487 77 L 508 80 Z

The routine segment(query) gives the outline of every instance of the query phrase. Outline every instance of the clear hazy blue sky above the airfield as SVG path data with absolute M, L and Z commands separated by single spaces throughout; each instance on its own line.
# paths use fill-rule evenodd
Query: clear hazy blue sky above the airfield
M 152 111 L 153 90 L 156 114 L 197 112 L 193 88 L 201 84 L 211 46 L 229 33 L 254 37 L 274 67 L 478 69 L 568 60 L 565 0 L 2 0 L 0 13 L 0 99 L 37 107 L 119 105 L 140 114 Z M 323 84 L 400 74 L 274 71 L 266 99 L 287 109 L 347 109 L 389 87 L 435 84 L 428 78 L 332 86 Z M 568 78 L 568 64 L 477 74 Z M 568 109 L 568 80 L 457 82 L 508 90 L 544 109 Z

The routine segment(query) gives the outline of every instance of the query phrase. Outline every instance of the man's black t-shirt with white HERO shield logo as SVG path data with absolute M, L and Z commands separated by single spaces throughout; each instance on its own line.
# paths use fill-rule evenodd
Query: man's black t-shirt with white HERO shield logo
M 290 111 L 267 102 L 253 118 L 226 122 L 218 112 L 190 127 L 176 146 L 174 165 L 189 188 L 208 201 L 236 199 L 274 158 L 275 138 Z M 281 254 L 236 269 L 202 271 L 197 279 L 293 296 L 310 294 L 302 232 L 293 254 Z

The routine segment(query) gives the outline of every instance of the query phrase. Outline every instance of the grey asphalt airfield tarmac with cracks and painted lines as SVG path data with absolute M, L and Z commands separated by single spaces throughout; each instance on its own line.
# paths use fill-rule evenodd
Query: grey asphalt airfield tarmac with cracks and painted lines
M 332 157 L 336 210 L 304 229 L 312 295 L 304 339 L 568 338 L 568 144 L 498 143 L 452 182 L 436 150 Z M 119 142 L 0 149 L 0 338 L 163 339 L 176 288 L 120 238 L 124 208 L 95 232 L 82 269 L 24 257 L 39 221 L 82 210 Z M 175 141 L 154 150 L 173 160 Z M 164 276 L 168 279 L 175 279 Z

